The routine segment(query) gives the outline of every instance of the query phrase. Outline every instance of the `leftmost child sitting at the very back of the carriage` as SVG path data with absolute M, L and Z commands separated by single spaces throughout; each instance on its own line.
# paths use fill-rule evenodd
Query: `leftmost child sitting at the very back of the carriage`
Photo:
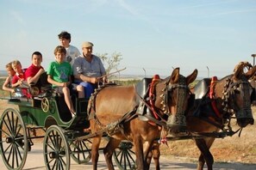
M 5 82 L 3 82 L 3 90 L 9 91 L 11 94 L 15 93 L 15 89 L 11 88 L 11 82 L 13 76 L 16 75 L 16 71 L 12 69 L 11 63 L 5 65 L 5 69 L 8 73 L 8 77 Z

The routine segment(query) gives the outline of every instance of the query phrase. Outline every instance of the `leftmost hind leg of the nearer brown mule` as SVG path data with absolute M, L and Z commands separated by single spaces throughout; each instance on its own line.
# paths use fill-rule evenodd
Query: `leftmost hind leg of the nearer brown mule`
M 97 161 L 98 161 L 98 150 L 99 145 L 101 143 L 101 136 L 100 137 L 93 137 L 92 145 L 91 145 L 91 162 L 94 170 L 97 170 Z

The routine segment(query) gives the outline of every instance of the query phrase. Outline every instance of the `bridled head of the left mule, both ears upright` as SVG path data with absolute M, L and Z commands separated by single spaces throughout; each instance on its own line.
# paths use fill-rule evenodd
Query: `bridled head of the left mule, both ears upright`
M 171 133 L 186 130 L 185 114 L 188 111 L 190 96 L 190 82 L 197 78 L 197 70 L 190 76 L 179 74 L 179 68 L 172 71 L 172 75 L 155 86 L 155 106 L 159 112 L 168 116 L 166 125 Z

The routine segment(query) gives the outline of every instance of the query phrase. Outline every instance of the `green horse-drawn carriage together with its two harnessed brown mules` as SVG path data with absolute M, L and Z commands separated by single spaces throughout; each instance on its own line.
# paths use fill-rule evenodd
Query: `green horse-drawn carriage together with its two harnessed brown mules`
M 164 80 L 156 76 L 138 86 L 104 86 L 92 94 L 91 100 L 74 97 L 72 101 L 77 114 L 73 118 L 69 116 L 63 98 L 53 91 L 33 99 L 9 99 L 9 103 L 19 106 L 19 111 L 8 108 L 0 120 L 3 161 L 9 169 L 22 169 L 33 145 L 32 139 L 38 138 L 31 134 L 41 128 L 46 132 L 41 137 L 44 137 L 43 155 L 47 169 L 69 169 L 70 155 L 78 163 L 91 160 L 93 168 L 97 169 L 99 146 L 102 137 L 106 136 L 109 142 L 103 153 L 109 169 L 114 169 L 112 155 L 121 169 L 149 169 L 151 150 L 153 155 L 158 154 L 154 158 L 159 159 L 154 144 L 157 139 L 168 138 L 163 136 L 167 131 L 175 135 L 169 137 L 170 140 L 194 138 L 202 153 L 198 169 L 203 169 L 205 161 L 211 169 L 213 157 L 209 147 L 215 137 L 234 134 L 229 127 L 223 129 L 228 123 L 223 121 L 229 120 L 235 112 L 241 127 L 253 123 L 248 78 L 254 75 L 256 68 L 247 73 L 243 70 L 244 65 L 240 65 L 233 75 L 224 77 L 213 86 L 207 84 L 207 87 L 196 89 L 196 95 L 201 95 L 199 91 L 203 89 L 203 95 L 196 96 L 199 100 L 196 107 L 191 105 L 193 94 L 188 85 L 196 79 L 197 70 L 184 77 L 178 68 Z M 212 98 L 201 100 L 203 96 Z M 203 113 L 209 111 L 204 106 L 226 114 L 219 115 L 216 121 L 208 117 L 203 117 L 206 121 L 198 118 L 201 113 L 195 117 L 197 109 Z M 84 131 L 89 126 L 91 131 Z M 220 129 L 224 133 L 217 133 Z M 159 162 L 156 168 L 159 169 Z

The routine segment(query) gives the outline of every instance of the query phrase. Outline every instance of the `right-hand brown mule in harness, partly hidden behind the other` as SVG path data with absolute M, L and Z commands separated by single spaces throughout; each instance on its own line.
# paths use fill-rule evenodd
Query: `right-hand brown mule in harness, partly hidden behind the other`
M 247 68 L 249 70 L 244 73 Z M 191 134 L 201 135 L 195 138 L 197 148 L 201 151 L 197 164 L 198 170 L 203 170 L 205 162 L 209 170 L 213 169 L 214 158 L 209 148 L 214 143 L 215 137 L 234 135 L 235 132 L 230 125 L 233 116 L 241 129 L 247 124 L 253 124 L 252 86 L 248 80 L 255 72 L 256 66 L 250 68 L 248 63 L 241 62 L 235 67 L 234 74 L 219 81 L 204 79 L 191 89 L 196 95 L 196 100 L 194 107 L 186 116 L 186 121 Z M 148 156 L 148 163 L 153 156 L 156 169 L 159 169 L 159 145 L 153 146 L 151 154 Z

